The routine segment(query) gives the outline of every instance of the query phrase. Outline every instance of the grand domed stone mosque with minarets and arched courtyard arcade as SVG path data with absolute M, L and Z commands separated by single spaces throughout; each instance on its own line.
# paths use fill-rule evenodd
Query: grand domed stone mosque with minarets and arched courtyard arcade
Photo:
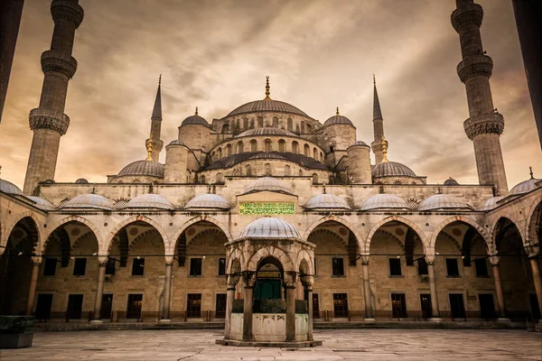
M 0 180 L 0 313 L 96 324 L 224 320 L 227 338 L 239 339 L 257 338 L 261 329 L 246 320 L 268 300 L 285 300 L 286 339 L 299 336 L 294 313 L 308 315 L 304 339 L 321 321 L 540 319 L 542 180 L 531 171 L 509 190 L 483 11 L 456 4 L 463 125 L 480 184 L 428 182 L 389 160 L 376 82 L 369 144 L 340 109 L 321 123 L 277 100 L 268 78 L 262 99 L 211 122 L 195 108 L 165 136 L 159 83 L 146 158 L 107 183 L 64 183 L 54 173 L 83 10 L 78 0 L 52 0 L 23 190 Z

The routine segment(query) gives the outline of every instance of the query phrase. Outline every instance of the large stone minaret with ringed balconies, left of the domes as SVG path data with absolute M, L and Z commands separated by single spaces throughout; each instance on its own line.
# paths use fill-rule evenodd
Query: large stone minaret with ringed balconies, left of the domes
M 24 179 L 24 193 L 32 194 L 40 181 L 54 180 L 61 135 L 66 134 L 70 117 L 64 114 L 68 81 L 77 69 L 71 56 L 75 30 L 83 21 L 79 0 L 53 0 L 54 30 L 51 50 L 42 53 L 44 74 L 40 106 L 30 111 L 32 148 Z

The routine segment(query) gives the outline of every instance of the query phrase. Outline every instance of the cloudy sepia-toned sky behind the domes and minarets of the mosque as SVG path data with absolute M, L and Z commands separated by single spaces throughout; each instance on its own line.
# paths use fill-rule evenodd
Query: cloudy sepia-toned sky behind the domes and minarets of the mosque
M 500 138 L 509 188 L 542 178 L 542 152 L 509 0 L 478 0 L 481 36 L 494 62 L 491 91 L 505 118 Z M 2 178 L 22 188 L 39 104 L 42 51 L 51 44 L 50 1 L 27 0 L 0 124 Z M 145 159 L 145 139 L 162 73 L 162 139 L 195 106 L 209 122 L 265 97 L 322 123 L 350 118 L 370 143 L 372 75 L 389 142 L 388 158 L 431 184 L 477 184 L 453 0 L 80 0 L 78 70 L 70 80 L 55 180 L 105 182 Z M 373 162 L 374 157 L 371 155 Z M 165 160 L 165 151 L 161 153 Z

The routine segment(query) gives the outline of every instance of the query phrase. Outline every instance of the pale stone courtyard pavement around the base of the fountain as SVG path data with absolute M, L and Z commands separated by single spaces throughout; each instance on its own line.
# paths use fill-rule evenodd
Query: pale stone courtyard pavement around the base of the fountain
M 0 336 L 1 337 L 1 336 Z M 542 360 L 542 333 L 524 330 L 317 330 L 313 348 L 225 347 L 213 330 L 38 332 L 0 360 Z

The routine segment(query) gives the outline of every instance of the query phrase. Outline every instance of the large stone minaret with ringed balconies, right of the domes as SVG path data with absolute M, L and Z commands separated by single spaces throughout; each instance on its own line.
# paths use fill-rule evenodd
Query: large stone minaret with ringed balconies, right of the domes
M 493 106 L 491 98 L 493 61 L 481 45 L 483 10 L 473 0 L 455 0 L 455 4 L 457 9 L 452 13 L 452 25 L 459 33 L 463 55 L 463 61 L 457 65 L 457 74 L 465 84 L 470 115 L 463 127 L 474 143 L 480 184 L 491 184 L 495 187 L 496 195 L 506 196 L 508 185 L 500 151 L 504 118 Z

